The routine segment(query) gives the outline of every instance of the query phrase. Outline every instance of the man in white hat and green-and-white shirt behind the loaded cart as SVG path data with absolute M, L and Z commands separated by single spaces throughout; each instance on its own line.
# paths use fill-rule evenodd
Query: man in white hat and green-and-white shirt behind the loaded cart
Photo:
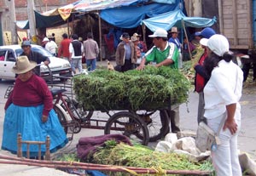
M 164 29 L 157 29 L 153 35 L 148 37 L 153 38 L 154 47 L 149 49 L 144 55 L 141 64 L 137 67 L 137 70 L 142 70 L 145 64 L 153 62 L 154 66 L 170 66 L 173 69 L 177 69 L 178 51 L 174 43 L 168 43 L 167 31 Z M 179 106 L 168 111 L 170 115 L 172 133 L 177 133 L 179 129 Z

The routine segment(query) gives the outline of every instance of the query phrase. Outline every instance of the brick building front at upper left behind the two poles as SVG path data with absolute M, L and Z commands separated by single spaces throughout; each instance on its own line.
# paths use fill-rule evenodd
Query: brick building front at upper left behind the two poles
M 16 20 L 28 20 L 29 4 L 34 2 L 34 9 L 39 13 L 74 3 L 77 0 L 0 0 L 0 45 L 19 42 L 26 31 L 15 26 Z M 20 31 L 23 31 L 20 34 Z M 20 35 L 19 35 L 20 34 Z M 15 40 L 15 37 L 17 39 Z

